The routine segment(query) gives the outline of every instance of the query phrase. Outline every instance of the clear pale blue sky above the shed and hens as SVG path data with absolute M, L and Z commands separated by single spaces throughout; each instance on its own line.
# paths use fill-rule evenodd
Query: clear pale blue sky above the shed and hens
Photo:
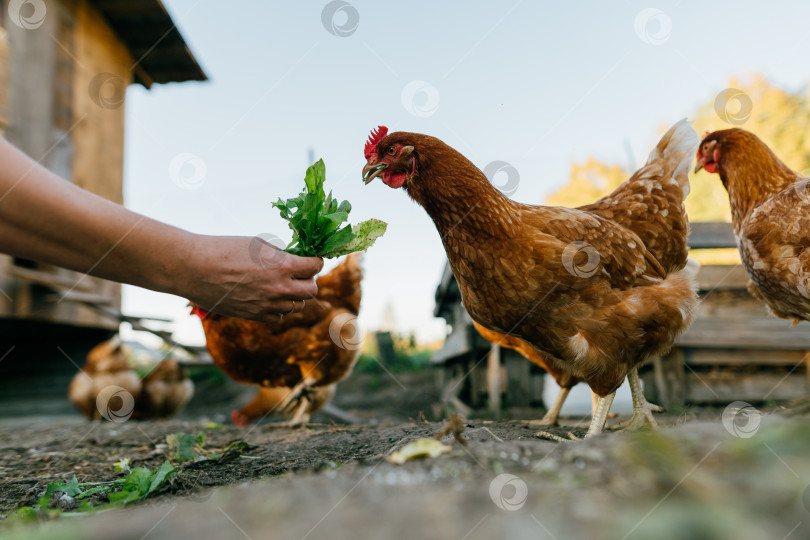
M 539 203 L 573 161 L 640 165 L 731 76 L 810 77 L 807 2 L 353 0 L 327 14 L 330 33 L 326 1 L 163 1 L 211 81 L 129 89 L 126 205 L 199 233 L 288 239 L 270 203 L 301 190 L 312 149 L 353 223 L 389 223 L 366 256 L 361 326 L 391 304 L 421 340 L 444 332 L 444 251 L 404 192 L 363 185 L 371 128 L 434 135 L 482 169 L 505 161 L 513 198 Z M 186 161 L 176 181 L 170 164 Z M 182 299 L 126 287 L 124 309 L 203 342 Z

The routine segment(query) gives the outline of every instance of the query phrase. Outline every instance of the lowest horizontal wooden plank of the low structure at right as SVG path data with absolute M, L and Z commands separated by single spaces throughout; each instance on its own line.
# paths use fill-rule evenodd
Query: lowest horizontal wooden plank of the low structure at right
M 807 395 L 804 373 L 740 374 L 734 372 L 687 373 L 689 403 L 728 403 L 788 400 Z

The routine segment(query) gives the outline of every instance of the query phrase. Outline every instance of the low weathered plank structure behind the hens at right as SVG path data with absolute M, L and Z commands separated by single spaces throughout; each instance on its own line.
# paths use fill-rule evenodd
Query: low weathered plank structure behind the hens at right
M 693 223 L 690 253 L 736 248 L 730 223 Z M 742 265 L 704 265 L 700 310 L 672 351 L 640 370 L 647 398 L 665 407 L 762 403 L 810 394 L 810 323 L 768 313 Z

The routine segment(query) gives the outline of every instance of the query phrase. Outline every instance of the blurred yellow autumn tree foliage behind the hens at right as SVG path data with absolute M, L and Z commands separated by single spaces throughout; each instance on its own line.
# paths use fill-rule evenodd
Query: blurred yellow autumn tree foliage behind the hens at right
M 761 75 L 747 83 L 732 78 L 728 89 L 712 96 L 690 118 L 699 135 L 730 127 L 755 133 L 792 169 L 810 173 L 810 94 L 791 92 L 768 83 Z M 669 126 L 661 126 L 659 136 Z M 651 141 L 654 144 L 654 141 Z M 607 195 L 630 177 L 632 171 L 607 164 L 594 157 L 572 163 L 568 184 L 551 194 L 547 204 L 579 206 Z M 731 221 L 728 194 L 716 174 L 705 171 L 690 178 L 686 199 L 689 220 Z M 699 254 L 703 263 L 739 261 L 735 250 L 707 250 Z

